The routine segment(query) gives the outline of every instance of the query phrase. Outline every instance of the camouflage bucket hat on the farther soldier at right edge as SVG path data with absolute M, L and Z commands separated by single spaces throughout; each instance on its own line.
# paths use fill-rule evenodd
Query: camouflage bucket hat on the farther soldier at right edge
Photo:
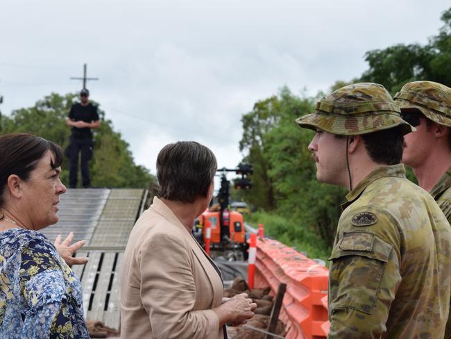
M 400 109 L 416 108 L 432 121 L 451 127 L 451 88 L 433 81 L 414 81 L 395 94 Z

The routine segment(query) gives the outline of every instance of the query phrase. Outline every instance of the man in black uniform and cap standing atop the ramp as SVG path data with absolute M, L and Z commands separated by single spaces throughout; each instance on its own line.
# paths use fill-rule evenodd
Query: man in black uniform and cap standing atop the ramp
M 69 188 L 76 188 L 78 175 L 78 154 L 81 151 L 81 177 L 84 188 L 89 188 L 90 168 L 88 161 L 92 158 L 92 131 L 100 127 L 97 106 L 89 102 L 90 91 L 80 91 L 80 102 L 73 104 L 67 117 L 67 126 L 72 127 L 67 156 L 70 158 Z

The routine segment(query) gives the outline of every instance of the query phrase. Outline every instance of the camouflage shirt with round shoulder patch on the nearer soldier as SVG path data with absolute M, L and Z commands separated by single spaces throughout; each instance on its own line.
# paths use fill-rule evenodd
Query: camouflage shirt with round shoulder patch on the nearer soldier
M 451 231 L 432 197 L 383 166 L 347 196 L 332 249 L 328 338 L 443 338 Z

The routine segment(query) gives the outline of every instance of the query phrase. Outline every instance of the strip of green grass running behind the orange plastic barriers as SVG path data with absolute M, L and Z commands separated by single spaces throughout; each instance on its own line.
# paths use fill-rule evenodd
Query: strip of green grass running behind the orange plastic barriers
M 330 247 L 311 229 L 301 226 L 297 220 L 267 212 L 252 213 L 246 222 L 257 229 L 258 224 L 264 224 L 265 236 L 275 238 L 284 245 L 293 247 L 309 258 L 320 258 L 327 261 Z

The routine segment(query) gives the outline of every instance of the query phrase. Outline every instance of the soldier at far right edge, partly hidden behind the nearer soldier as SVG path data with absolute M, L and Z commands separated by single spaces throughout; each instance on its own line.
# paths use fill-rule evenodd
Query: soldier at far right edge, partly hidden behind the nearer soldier
M 406 83 L 395 94 L 401 115 L 416 132 L 405 137 L 402 162 L 451 222 L 451 88 L 433 81 Z M 445 338 L 451 338 L 451 319 Z

